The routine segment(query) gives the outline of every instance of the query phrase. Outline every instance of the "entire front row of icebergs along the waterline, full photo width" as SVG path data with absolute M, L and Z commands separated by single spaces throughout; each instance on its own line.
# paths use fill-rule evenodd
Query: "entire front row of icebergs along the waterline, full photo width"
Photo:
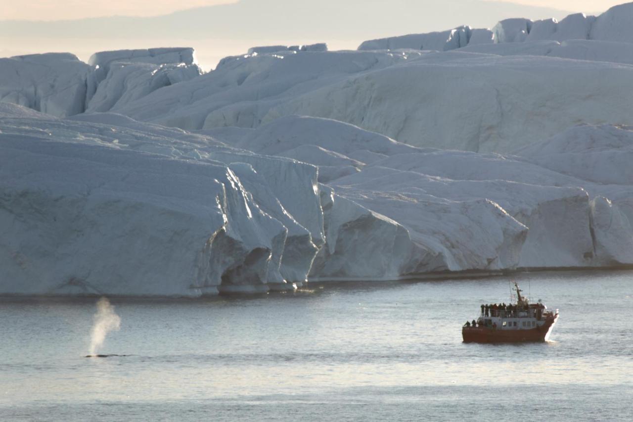
M 534 148 L 596 158 L 568 175 L 527 148 L 415 148 L 323 118 L 242 132 L 260 155 L 121 115 L 2 110 L 1 293 L 197 296 L 633 262 L 630 181 L 594 176 L 629 129 L 583 126 Z M 319 184 L 309 155 L 270 155 L 310 145 L 330 172 L 357 171 Z

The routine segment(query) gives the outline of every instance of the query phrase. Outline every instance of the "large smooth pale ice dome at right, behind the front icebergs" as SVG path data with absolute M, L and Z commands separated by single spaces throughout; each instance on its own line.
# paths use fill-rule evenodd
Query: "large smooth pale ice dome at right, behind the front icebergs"
M 578 122 L 633 123 L 631 77 L 610 63 L 429 53 L 297 96 L 262 121 L 312 115 L 415 146 L 505 152 Z

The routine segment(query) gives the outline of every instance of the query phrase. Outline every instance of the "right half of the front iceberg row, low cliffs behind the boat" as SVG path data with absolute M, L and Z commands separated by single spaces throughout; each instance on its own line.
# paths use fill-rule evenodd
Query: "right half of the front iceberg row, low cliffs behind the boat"
M 633 262 L 622 252 L 615 253 L 615 248 L 601 246 L 612 245 L 601 239 L 616 231 L 620 233 L 618 247 L 624 240 L 633 241 L 633 233 L 626 229 L 633 218 L 633 179 L 625 164 L 632 144 L 630 133 L 610 125 L 574 127 L 532 148 L 525 147 L 517 151 L 520 157 L 513 157 L 415 148 L 335 120 L 290 116 L 256 130 L 242 130 L 231 142 L 274 155 L 308 146 L 320 148 L 323 155 L 306 155 L 303 161 L 318 165 L 319 170 L 325 167 L 329 174 L 353 162 L 354 172 L 339 172 L 341 176 L 332 178 L 328 189 L 321 185 L 327 248 L 318 253 L 311 277 L 363 274 L 370 278 L 370 273 L 383 274 L 387 262 L 392 265 L 389 273 L 400 276 L 442 269 Z M 558 170 L 550 170 L 545 159 L 555 153 L 564 157 L 558 160 Z M 320 164 L 323 157 L 330 158 L 325 165 Z M 573 161 L 565 164 L 568 160 Z M 575 162 L 582 165 L 573 165 Z M 624 173 L 610 172 L 614 168 Z M 607 175 L 621 184 L 604 184 L 609 181 L 603 178 Z M 596 207 L 598 196 L 610 198 L 606 200 L 610 207 Z M 502 212 L 497 214 L 497 210 Z M 592 215 L 602 215 L 601 221 L 605 221 L 611 215 L 605 210 L 613 210 L 617 216 L 619 223 L 613 226 L 617 229 L 608 224 L 597 226 L 598 217 Z M 342 215 L 346 215 L 342 218 L 345 224 L 337 222 Z M 354 215 L 359 222 L 350 225 Z M 385 227 L 386 232 L 380 229 L 385 221 L 397 222 L 406 229 L 406 236 L 399 236 L 396 227 Z M 339 232 L 328 234 L 332 227 Z M 361 233 L 359 227 L 373 227 L 370 232 L 382 233 L 385 245 L 399 245 L 399 257 L 407 258 L 403 262 L 385 260 L 380 257 L 389 254 L 382 252 L 373 257 L 379 251 L 372 246 L 375 242 L 349 241 L 356 237 L 349 230 Z M 408 257 L 411 251 L 415 258 Z M 368 258 L 358 258 L 361 255 Z M 355 267 L 359 261 L 371 264 Z

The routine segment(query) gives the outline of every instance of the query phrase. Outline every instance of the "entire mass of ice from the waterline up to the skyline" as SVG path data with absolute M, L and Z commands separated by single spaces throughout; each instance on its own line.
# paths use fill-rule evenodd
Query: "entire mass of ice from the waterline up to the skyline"
M 0 59 L 0 293 L 633 265 L 632 23 Z

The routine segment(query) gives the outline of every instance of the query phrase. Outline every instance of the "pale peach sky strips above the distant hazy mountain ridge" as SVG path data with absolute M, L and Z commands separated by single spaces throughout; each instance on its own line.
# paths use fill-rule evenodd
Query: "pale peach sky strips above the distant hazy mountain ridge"
M 0 20 L 65 20 L 96 16 L 157 16 L 177 10 L 237 3 L 238 0 L 0 0 Z M 345 1 L 345 0 L 341 0 Z M 414 2 L 416 0 L 411 0 Z M 508 3 L 542 6 L 560 10 L 584 11 L 587 13 L 606 10 L 625 0 L 501 0 Z M 318 3 L 315 0 L 297 0 Z M 389 4 L 385 0 L 385 4 Z

